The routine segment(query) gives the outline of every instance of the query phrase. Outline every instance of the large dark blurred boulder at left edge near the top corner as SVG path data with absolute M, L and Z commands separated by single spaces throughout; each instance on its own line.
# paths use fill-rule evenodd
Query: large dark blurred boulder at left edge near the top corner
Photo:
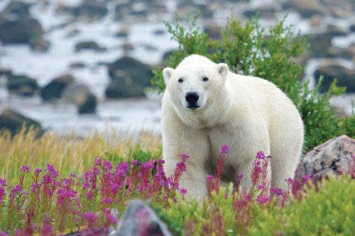
M 34 18 L 0 19 L 0 41 L 4 44 L 35 44 L 42 35 L 42 26 Z

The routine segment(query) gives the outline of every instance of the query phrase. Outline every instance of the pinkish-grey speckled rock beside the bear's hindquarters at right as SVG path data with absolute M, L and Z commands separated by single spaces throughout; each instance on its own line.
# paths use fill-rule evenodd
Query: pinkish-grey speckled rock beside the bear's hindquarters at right
M 298 164 L 295 179 L 311 174 L 315 180 L 329 174 L 355 173 L 355 139 L 342 135 L 313 148 Z

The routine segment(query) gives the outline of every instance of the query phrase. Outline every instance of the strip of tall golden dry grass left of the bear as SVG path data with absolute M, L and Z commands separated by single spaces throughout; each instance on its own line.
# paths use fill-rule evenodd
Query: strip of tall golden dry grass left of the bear
M 149 133 L 141 133 L 136 139 L 113 129 L 104 133 L 109 135 L 104 137 L 92 133 L 80 138 L 74 133 L 68 137 L 45 133 L 36 138 L 33 130 L 18 133 L 14 137 L 3 132 L 0 134 L 0 178 L 7 179 L 10 185 L 15 183 L 23 165 L 28 165 L 33 171 L 35 168 L 45 169 L 46 164 L 54 164 L 60 174 L 82 174 L 92 165 L 94 157 L 104 157 L 107 152 L 114 153 L 114 156 L 109 155 L 107 158 L 117 162 L 114 160 L 116 157 L 131 159 L 129 150 L 135 147 L 153 153 L 159 152 L 161 148 L 160 137 Z

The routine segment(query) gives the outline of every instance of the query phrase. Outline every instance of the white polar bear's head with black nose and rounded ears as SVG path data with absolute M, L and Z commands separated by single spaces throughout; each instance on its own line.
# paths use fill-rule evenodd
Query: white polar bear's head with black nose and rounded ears
M 176 69 L 163 69 L 171 102 L 184 121 L 189 118 L 195 121 L 196 118 L 208 119 L 218 111 L 226 96 L 228 72 L 227 64 L 216 64 L 199 55 L 186 57 Z

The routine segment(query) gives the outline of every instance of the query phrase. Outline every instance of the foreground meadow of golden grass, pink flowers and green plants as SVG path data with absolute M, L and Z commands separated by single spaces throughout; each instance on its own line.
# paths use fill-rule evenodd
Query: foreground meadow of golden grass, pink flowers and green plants
M 173 176 L 165 176 L 161 141 L 148 133 L 138 140 L 111 130 L 109 137 L 58 137 L 32 131 L 0 135 L 0 235 L 60 235 L 114 226 L 133 198 L 146 200 L 174 235 L 353 235 L 354 174 L 312 183 L 288 179 L 289 189 L 263 182 L 270 160 L 256 154 L 253 188 L 240 178 L 220 186 L 221 168 L 207 176 L 209 196 L 187 200 L 178 181 L 187 154 Z M 271 157 L 272 158 L 272 157 Z M 219 170 L 218 170 L 219 169 Z M 111 209 L 119 215 L 113 215 Z

